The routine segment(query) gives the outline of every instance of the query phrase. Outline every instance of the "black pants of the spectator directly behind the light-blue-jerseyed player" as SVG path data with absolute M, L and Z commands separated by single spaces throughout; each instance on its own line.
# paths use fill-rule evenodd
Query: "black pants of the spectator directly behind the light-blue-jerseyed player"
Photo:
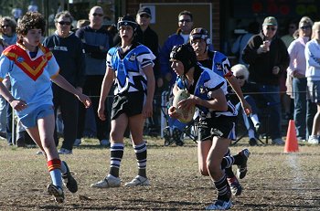
M 63 142 L 62 148 L 72 150 L 73 143 L 77 138 L 78 126 L 78 99 L 69 91 L 62 90 L 53 84 L 53 104 L 55 107 L 55 120 L 57 120 L 57 111 L 60 109 L 63 121 Z M 57 134 L 57 124 L 54 132 L 55 143 L 58 146 L 59 137 Z

